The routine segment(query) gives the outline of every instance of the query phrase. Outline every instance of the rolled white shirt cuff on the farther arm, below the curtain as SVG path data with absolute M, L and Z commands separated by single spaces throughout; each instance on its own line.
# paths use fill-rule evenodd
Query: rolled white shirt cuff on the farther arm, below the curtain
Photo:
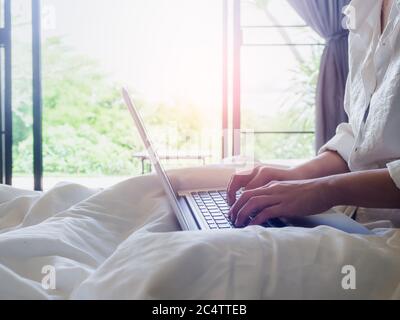
M 336 135 L 329 140 L 318 152 L 336 151 L 346 162 L 349 162 L 350 154 L 355 144 L 353 129 L 349 123 L 342 123 L 337 127 Z

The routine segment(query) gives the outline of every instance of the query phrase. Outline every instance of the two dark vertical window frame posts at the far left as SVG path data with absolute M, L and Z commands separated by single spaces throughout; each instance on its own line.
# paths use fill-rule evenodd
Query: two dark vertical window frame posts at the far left
M 4 0 L 4 26 L 0 28 L 0 183 L 12 185 L 13 112 L 12 112 L 12 0 Z M 43 190 L 42 155 L 42 77 L 41 77 L 41 2 L 32 0 L 32 112 L 34 189 Z

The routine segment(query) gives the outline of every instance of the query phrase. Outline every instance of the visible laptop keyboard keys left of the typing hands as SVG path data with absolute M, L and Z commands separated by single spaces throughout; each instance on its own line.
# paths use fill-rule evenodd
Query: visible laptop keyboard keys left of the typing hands
M 234 228 L 228 217 L 230 207 L 226 202 L 226 191 L 192 192 L 191 195 L 210 229 Z

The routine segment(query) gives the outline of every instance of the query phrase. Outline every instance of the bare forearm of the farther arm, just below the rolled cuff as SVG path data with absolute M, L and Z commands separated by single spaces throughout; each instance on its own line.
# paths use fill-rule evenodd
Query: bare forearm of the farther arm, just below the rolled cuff
M 338 153 L 327 151 L 291 171 L 296 179 L 306 180 L 346 173 L 349 167 Z

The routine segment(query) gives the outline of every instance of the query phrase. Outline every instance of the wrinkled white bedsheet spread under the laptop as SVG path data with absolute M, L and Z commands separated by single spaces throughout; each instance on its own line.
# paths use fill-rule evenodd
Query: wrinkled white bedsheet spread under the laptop
M 199 187 L 219 168 L 173 173 Z M 0 299 L 399 299 L 400 230 L 328 227 L 182 232 L 155 176 L 106 190 L 0 187 Z M 42 287 L 54 266 L 56 289 Z M 356 290 L 341 286 L 344 265 Z

